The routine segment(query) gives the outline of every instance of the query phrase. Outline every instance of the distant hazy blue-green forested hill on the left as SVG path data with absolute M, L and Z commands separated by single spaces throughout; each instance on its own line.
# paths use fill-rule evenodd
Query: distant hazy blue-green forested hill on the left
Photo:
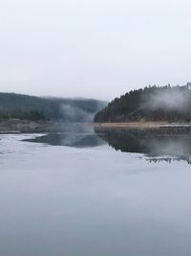
M 92 122 L 105 102 L 88 99 L 40 98 L 15 93 L 0 93 L 0 119 Z

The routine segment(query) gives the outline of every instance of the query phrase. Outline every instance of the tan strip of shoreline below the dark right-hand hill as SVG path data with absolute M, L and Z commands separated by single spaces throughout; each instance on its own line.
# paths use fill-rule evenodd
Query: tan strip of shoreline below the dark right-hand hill
M 191 128 L 191 123 L 128 122 L 94 123 L 95 128 Z

